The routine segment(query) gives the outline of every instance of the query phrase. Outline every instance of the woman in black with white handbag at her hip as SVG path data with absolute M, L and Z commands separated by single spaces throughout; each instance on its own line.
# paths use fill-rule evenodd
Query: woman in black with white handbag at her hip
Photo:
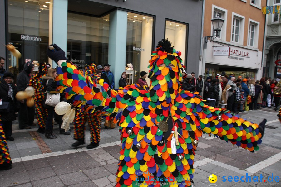
M 54 68 L 50 68 L 48 70 L 48 74 L 45 77 L 42 77 L 43 81 L 42 84 L 47 92 L 54 92 L 57 91 L 57 85 L 55 79 L 57 77 L 57 70 Z M 51 98 L 56 100 L 58 98 L 57 103 L 60 101 L 60 93 L 47 93 L 44 100 L 44 108 L 47 109 L 47 120 L 45 124 L 45 137 L 49 139 L 56 139 L 57 136 L 53 133 L 53 118 L 55 114 L 55 106 L 57 103 L 51 102 Z M 48 103 L 49 102 L 49 103 Z M 52 105 L 52 106 L 51 106 Z

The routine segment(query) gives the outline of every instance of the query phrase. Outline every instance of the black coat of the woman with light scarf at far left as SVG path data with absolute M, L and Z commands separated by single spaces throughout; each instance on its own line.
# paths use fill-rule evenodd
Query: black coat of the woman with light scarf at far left
M 0 84 L 0 99 L 2 101 L 6 101 L 10 103 L 10 109 L 7 112 L 1 112 L 1 120 L 2 121 L 13 121 L 16 120 L 16 110 L 19 109 L 19 102 L 15 98 L 17 94 L 17 87 L 14 83 L 11 84 L 13 89 L 13 96 L 14 100 L 12 98 L 8 97 L 8 91 L 9 91 L 9 85 L 3 80 Z

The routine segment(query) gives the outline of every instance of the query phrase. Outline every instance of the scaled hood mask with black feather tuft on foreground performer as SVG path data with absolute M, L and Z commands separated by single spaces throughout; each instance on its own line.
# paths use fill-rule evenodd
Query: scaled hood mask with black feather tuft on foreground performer
M 150 98 L 157 102 L 166 100 L 170 103 L 176 98 L 183 70 L 181 52 L 176 52 L 168 40 L 162 39 L 153 51 L 150 60 Z

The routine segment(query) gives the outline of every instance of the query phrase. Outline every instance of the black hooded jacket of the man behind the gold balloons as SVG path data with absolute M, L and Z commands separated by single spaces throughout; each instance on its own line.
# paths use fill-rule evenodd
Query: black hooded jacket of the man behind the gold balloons
M 34 65 L 30 62 L 24 64 L 22 72 L 17 75 L 17 91 L 24 91 L 29 85 L 33 66 Z

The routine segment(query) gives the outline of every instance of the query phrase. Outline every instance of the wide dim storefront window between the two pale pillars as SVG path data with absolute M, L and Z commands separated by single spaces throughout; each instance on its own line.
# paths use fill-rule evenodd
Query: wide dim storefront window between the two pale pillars
M 97 18 L 67 14 L 67 58 L 83 69 L 85 64 L 108 63 L 109 15 Z

